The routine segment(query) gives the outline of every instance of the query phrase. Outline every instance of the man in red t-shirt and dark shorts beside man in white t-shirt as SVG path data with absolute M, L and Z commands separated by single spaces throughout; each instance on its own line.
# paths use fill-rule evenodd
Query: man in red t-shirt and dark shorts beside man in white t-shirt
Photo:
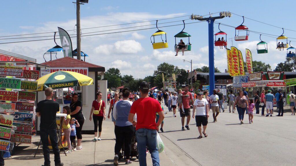
M 186 128 L 187 130 L 190 130 L 189 128 L 189 121 L 190 121 L 190 104 L 189 102 L 191 101 L 193 103 L 192 100 L 192 94 L 191 92 L 188 91 L 189 87 L 186 86 L 184 92 L 182 93 L 182 105 L 180 105 L 180 107 L 184 108 L 185 114 L 182 113 L 182 111 L 180 111 L 180 116 L 181 116 L 181 122 L 182 122 L 182 130 L 184 131 L 184 121 L 185 121 L 185 116 L 187 116 L 187 122 L 186 122 Z

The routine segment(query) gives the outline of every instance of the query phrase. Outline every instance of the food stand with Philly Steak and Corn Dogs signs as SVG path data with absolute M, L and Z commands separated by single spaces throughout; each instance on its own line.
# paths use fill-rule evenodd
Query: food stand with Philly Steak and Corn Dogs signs
M 248 82 L 242 83 L 241 87 L 247 88 L 248 96 L 250 99 L 255 98 L 255 92 L 259 91 L 261 93 L 262 89 L 265 89 L 267 92 L 270 89 L 272 92 L 277 92 L 278 89 L 282 90 L 283 95 L 286 95 L 286 83 L 284 79 L 286 78 L 284 72 L 273 72 L 268 71 L 267 73 L 257 72 L 249 74 Z M 284 106 L 286 105 L 286 97 L 283 99 Z M 274 105 L 276 102 L 274 101 Z

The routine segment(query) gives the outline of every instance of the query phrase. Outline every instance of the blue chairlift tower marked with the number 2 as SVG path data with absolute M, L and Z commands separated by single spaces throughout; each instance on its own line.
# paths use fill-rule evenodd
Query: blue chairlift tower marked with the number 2
M 200 15 L 191 15 L 191 19 L 197 19 L 200 21 L 207 21 L 208 22 L 208 31 L 209 31 L 209 85 L 210 85 L 210 95 L 213 94 L 213 90 L 215 89 L 215 66 L 214 66 L 214 21 L 215 19 L 221 19 L 224 17 L 231 17 L 230 12 L 220 12 L 220 16 L 203 18 Z

